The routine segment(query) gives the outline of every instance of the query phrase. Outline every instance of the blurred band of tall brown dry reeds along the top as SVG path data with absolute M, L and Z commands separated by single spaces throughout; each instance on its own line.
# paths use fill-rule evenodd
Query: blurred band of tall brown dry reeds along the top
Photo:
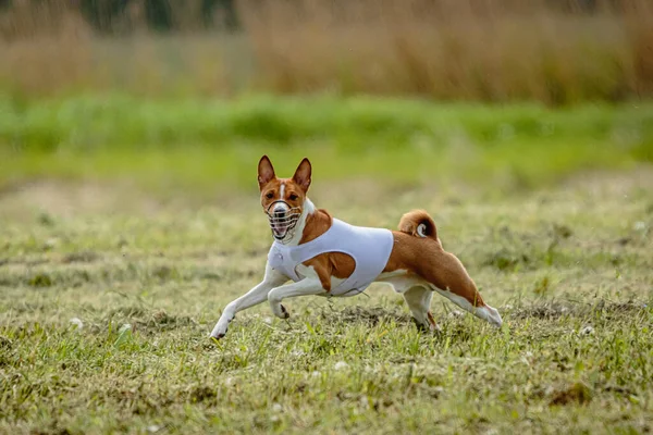
M 100 35 L 73 2 L 14 1 L 0 12 L 0 89 L 546 103 L 653 94 L 649 0 L 243 0 L 235 33 L 202 25 L 200 3 L 171 0 L 161 35 L 133 1 Z

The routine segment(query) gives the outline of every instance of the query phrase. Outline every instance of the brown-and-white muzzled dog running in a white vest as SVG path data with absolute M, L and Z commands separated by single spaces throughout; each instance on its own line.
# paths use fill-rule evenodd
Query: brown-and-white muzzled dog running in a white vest
M 429 213 L 404 214 L 398 231 L 349 225 L 308 199 L 311 171 L 305 158 L 292 178 L 279 178 L 270 159 L 260 159 L 261 207 L 274 237 L 264 277 L 225 307 L 210 337 L 224 337 L 237 312 L 266 300 L 274 315 L 287 319 L 288 311 L 281 303 L 286 298 L 354 296 L 372 282 L 390 284 L 402 294 L 422 330 L 439 328 L 430 311 L 435 291 L 501 327 L 498 311 L 483 301 L 458 258 L 442 248 Z

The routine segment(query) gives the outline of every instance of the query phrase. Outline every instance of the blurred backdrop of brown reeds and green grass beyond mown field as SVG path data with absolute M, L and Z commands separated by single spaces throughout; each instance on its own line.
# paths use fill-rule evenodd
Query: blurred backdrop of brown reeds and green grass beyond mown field
M 649 164 L 650 0 L 2 0 L 0 186 L 530 188 Z M 291 163 L 292 161 L 292 163 Z

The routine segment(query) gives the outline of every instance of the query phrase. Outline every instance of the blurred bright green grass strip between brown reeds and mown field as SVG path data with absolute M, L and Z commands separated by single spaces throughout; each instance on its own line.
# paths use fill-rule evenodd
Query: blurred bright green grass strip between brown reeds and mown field
M 0 99 L 0 186 L 58 178 L 122 179 L 155 190 L 251 187 L 252 161 L 263 152 L 287 170 L 311 157 L 322 163 L 323 181 L 381 175 L 408 184 L 537 187 L 581 170 L 653 161 L 653 105 Z

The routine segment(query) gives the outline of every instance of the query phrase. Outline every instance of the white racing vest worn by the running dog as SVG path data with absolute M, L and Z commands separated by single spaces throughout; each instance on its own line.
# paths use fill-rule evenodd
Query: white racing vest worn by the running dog
M 392 252 L 394 237 L 390 229 L 349 225 L 333 219 L 331 227 L 306 244 L 285 246 L 274 240 L 268 262 L 289 279 L 298 282 L 295 268 L 324 252 L 352 256 L 356 268 L 352 275 L 331 289 L 333 296 L 354 296 L 364 291 L 383 272 Z

